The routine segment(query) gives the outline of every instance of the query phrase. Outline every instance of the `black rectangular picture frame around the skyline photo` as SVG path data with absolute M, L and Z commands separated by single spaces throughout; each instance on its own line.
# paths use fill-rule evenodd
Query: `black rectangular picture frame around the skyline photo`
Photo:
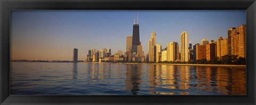
M 0 0 L 0 104 L 256 104 L 255 0 Z M 247 95 L 10 95 L 10 10 L 246 10 Z

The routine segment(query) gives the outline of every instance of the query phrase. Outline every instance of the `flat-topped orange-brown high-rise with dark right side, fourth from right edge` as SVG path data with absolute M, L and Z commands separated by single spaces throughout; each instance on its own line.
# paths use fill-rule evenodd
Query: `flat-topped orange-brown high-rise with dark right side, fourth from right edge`
M 206 44 L 206 60 L 210 61 L 216 58 L 216 43 L 214 41 L 211 41 L 211 43 Z

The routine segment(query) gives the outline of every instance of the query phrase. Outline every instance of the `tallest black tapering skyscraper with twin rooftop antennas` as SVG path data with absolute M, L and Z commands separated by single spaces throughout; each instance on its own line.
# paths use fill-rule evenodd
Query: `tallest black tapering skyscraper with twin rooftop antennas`
M 139 15 L 137 23 L 135 23 L 135 19 L 133 20 L 132 52 L 138 53 L 138 45 L 140 45 Z

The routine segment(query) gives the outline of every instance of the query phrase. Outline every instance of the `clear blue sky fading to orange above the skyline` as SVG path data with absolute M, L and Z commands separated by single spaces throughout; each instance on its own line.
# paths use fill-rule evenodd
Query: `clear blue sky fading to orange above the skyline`
M 192 45 L 208 41 L 246 23 L 245 10 L 12 10 L 11 60 L 85 60 L 91 49 L 126 50 L 126 36 L 132 35 L 133 18 L 139 15 L 140 42 L 148 53 L 151 32 L 162 49 L 178 42 L 188 32 Z

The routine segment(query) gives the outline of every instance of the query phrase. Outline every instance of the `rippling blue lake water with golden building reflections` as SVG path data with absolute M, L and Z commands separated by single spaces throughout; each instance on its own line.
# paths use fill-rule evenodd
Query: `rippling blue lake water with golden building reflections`
M 11 62 L 11 95 L 246 95 L 245 68 Z

